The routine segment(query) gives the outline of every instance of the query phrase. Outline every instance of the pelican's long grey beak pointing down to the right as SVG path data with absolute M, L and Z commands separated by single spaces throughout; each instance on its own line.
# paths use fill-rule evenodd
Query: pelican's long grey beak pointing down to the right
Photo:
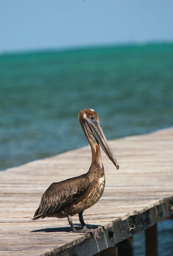
M 118 162 L 110 149 L 110 146 L 107 142 L 107 139 L 103 133 L 103 130 L 101 128 L 101 124 L 95 119 L 86 118 L 85 119 L 85 126 L 88 131 L 88 135 L 92 133 L 94 136 L 94 139 L 97 141 L 98 144 L 102 147 L 103 151 L 106 153 L 108 158 L 113 162 L 113 164 L 116 166 L 117 170 L 119 169 Z

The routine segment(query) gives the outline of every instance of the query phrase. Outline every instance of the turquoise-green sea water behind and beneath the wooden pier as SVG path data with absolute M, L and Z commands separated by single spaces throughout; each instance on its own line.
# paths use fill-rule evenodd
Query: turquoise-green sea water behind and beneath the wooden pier
M 173 43 L 0 55 L 0 170 L 86 145 L 84 108 L 108 139 L 173 126 Z M 173 255 L 172 222 L 159 230 Z

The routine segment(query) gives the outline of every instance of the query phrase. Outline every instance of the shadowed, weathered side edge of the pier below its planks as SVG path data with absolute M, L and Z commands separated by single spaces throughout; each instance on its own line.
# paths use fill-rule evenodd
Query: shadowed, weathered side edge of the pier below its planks
M 74 245 L 71 243 L 66 244 L 65 246 L 41 254 L 41 256 L 88 256 L 97 254 L 106 248 L 116 246 L 117 243 L 172 216 L 173 197 L 160 200 L 149 209 L 129 213 L 128 215 L 126 215 L 123 220 L 122 218 L 116 219 L 105 225 L 104 230 L 100 227 L 98 231 L 101 238 L 97 240 L 87 235 L 87 238 L 84 240 L 79 239 L 74 241 Z M 153 254 L 153 256 L 155 256 L 155 254 Z

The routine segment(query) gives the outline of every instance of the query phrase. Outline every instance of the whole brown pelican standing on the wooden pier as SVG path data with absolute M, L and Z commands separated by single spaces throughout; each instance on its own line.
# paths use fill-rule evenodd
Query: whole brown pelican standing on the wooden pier
M 73 232 L 90 232 L 96 238 L 99 237 L 99 234 L 94 229 L 86 227 L 83 211 L 97 203 L 105 187 L 105 175 L 99 145 L 117 169 L 119 169 L 119 165 L 103 133 L 97 112 L 92 109 L 80 111 L 79 121 L 92 151 L 90 169 L 86 174 L 52 183 L 44 192 L 33 219 L 67 217 Z M 77 213 L 83 227 L 82 230 L 76 230 L 72 223 L 72 216 Z

